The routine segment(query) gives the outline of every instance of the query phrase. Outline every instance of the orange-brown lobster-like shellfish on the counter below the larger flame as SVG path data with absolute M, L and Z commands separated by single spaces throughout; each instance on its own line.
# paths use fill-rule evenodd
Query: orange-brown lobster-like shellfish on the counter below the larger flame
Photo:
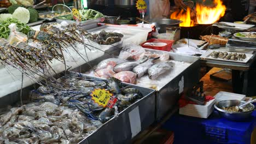
M 214 45 L 214 44 L 219 44 L 219 45 L 225 45 L 226 43 L 228 43 L 228 38 L 223 38 L 220 37 L 219 35 L 201 35 L 200 36 L 201 39 L 207 41 L 209 43 L 209 45 Z

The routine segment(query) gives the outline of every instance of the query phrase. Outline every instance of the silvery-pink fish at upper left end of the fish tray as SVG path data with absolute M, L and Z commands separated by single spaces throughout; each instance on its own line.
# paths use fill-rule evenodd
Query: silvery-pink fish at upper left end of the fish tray
M 106 68 L 108 65 L 112 65 L 113 67 L 115 67 L 115 65 L 124 63 L 125 60 L 124 59 L 120 59 L 120 58 L 108 58 L 105 59 L 103 61 L 101 61 L 100 63 L 98 63 L 96 69 L 104 69 Z

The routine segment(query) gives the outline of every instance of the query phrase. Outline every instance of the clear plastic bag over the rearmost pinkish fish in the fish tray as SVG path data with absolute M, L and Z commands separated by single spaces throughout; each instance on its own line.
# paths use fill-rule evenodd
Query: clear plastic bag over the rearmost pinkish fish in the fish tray
M 121 50 L 119 57 L 121 59 L 135 59 L 138 60 L 139 56 L 146 52 L 142 46 L 135 44 L 127 44 L 124 46 L 123 50 Z

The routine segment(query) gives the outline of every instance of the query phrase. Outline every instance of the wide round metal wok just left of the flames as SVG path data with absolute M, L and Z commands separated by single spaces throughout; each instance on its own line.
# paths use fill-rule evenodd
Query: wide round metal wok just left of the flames
M 155 25 L 158 33 L 166 33 L 167 27 L 178 27 L 179 23 L 183 22 L 176 19 L 149 19 L 147 21 Z

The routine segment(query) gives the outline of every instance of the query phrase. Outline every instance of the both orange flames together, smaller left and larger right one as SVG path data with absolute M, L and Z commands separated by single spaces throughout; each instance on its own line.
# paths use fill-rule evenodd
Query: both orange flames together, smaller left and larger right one
M 226 7 L 222 4 L 221 0 L 213 1 L 214 7 L 207 7 L 203 4 L 196 3 L 196 16 L 193 12 L 193 16 L 191 17 L 191 10 L 187 7 L 187 12 L 182 10 L 176 10 L 171 14 L 171 19 L 179 19 L 182 20 L 183 23 L 179 24 L 181 27 L 192 27 L 195 26 L 196 23 L 199 24 L 211 24 L 220 19 L 220 17 L 224 16 Z

